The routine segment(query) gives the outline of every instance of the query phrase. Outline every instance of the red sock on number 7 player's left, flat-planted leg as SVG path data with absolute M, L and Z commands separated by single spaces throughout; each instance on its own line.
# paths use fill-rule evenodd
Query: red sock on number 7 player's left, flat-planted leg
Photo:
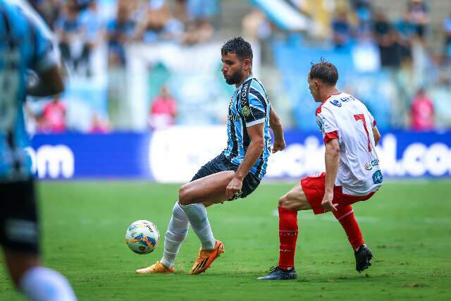
M 290 269 L 295 266 L 297 240 L 297 211 L 279 207 L 279 267 Z

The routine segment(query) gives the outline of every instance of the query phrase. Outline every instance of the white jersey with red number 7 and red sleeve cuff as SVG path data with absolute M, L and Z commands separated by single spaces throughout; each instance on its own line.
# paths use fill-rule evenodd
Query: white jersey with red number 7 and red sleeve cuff
M 383 177 L 373 135 L 376 121 L 366 106 L 350 94 L 330 95 L 316 109 L 316 123 L 325 144 L 334 138 L 340 144 L 335 186 L 342 186 L 347 195 L 366 195 L 378 190 Z

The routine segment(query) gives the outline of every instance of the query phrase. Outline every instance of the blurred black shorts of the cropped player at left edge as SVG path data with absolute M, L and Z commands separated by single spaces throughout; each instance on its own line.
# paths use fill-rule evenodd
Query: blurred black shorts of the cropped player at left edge
M 0 245 L 39 254 L 35 182 L 0 182 Z

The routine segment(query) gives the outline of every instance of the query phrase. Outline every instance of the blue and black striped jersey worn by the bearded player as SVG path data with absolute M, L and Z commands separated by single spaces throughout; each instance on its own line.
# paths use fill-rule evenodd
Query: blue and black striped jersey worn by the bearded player
M 268 165 L 268 156 L 271 149 L 271 135 L 269 134 L 269 111 L 271 104 L 268 94 L 261 82 L 249 75 L 249 77 L 237 87 L 233 93 L 228 107 L 227 135 L 228 145 L 224 154 L 236 165 L 240 165 L 250 138 L 247 128 L 252 125 L 264 123 L 265 145 L 261 156 L 251 169 L 259 179 L 263 178 Z

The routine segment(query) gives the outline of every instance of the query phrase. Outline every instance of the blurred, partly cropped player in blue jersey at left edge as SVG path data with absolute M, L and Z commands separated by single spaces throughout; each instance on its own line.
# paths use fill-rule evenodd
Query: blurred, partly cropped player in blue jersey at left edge
M 0 246 L 16 288 L 30 300 L 76 300 L 70 284 L 39 262 L 35 183 L 23 104 L 63 91 L 51 32 L 25 1 L 0 0 Z M 29 82 L 30 70 L 35 80 Z

